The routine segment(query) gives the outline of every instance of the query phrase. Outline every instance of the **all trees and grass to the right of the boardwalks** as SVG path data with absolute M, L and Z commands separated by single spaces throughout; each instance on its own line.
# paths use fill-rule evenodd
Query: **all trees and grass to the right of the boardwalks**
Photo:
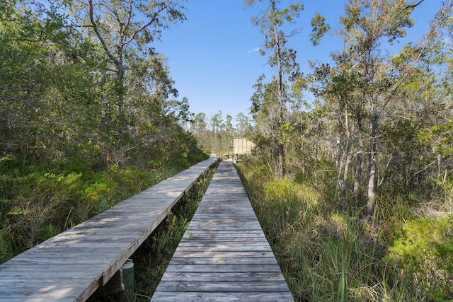
M 258 78 L 239 163 L 296 301 L 452 301 L 452 1 L 344 1 L 307 40 L 343 40 L 309 62 L 297 1 L 246 0 L 272 72 Z M 409 40 L 413 13 L 436 5 Z M 302 50 L 303 51 L 303 50 Z M 304 54 L 302 53 L 302 56 Z

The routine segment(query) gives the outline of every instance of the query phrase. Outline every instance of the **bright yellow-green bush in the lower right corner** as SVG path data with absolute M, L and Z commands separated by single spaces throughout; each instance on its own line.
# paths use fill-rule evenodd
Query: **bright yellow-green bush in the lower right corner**
M 431 301 L 453 298 L 453 219 L 420 218 L 406 221 L 389 248 L 389 261 L 403 267 L 415 291 Z

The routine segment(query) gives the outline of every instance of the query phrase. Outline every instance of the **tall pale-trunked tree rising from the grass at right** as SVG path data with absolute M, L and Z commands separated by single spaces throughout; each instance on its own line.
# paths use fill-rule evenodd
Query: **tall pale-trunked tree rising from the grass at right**
M 363 108 L 364 114 L 356 115 L 356 122 L 360 122 L 358 135 L 369 141 L 364 150 L 369 154 L 366 190 L 369 215 L 373 214 L 376 196 L 380 122 L 405 79 L 405 75 L 392 76 L 389 58 L 381 50 L 385 43 L 406 36 L 406 28 L 413 25 L 411 12 L 421 2 L 350 0 L 345 6 L 345 16 L 340 18 L 343 25 L 340 33 L 348 47 L 334 59 L 343 69 L 348 68 L 350 74 L 359 76 L 357 93 L 361 98 L 356 100 L 362 103 L 356 105 Z M 364 124 L 362 117 L 367 118 Z M 366 134 L 362 125 L 369 125 Z

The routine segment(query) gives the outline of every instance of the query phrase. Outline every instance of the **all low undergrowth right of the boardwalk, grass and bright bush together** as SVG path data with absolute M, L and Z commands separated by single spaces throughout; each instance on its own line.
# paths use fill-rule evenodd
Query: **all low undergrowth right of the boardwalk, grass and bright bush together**
M 407 195 L 380 197 L 374 219 L 333 202 L 328 178 L 273 181 L 238 170 L 296 301 L 452 301 L 453 221 L 420 217 Z M 445 202 L 444 202 L 445 203 Z

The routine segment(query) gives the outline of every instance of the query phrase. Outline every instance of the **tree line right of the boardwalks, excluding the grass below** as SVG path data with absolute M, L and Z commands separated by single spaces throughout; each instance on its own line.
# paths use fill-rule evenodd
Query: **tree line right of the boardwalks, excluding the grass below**
M 331 62 L 310 61 L 302 74 L 295 50 L 303 5 L 245 1 L 265 37 L 273 74 L 260 76 L 251 97 L 256 153 L 277 180 L 330 175 L 343 210 L 374 216 L 386 194 L 452 192 L 452 2 L 432 16 L 420 40 L 404 40 L 425 1 L 350 0 L 338 28 L 321 13 L 310 40 L 336 35 L 343 49 Z M 395 43 L 407 42 L 392 52 Z M 312 99 L 306 97 L 311 95 Z M 302 173 L 301 173 L 302 171 Z M 301 176 L 302 175 L 302 176 Z

